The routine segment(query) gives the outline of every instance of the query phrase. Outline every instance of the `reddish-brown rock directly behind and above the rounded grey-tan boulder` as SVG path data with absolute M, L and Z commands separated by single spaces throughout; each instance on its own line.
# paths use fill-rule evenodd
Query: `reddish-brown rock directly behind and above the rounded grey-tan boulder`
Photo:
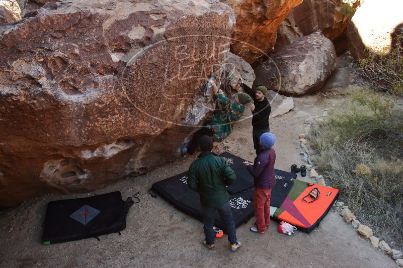
M 349 19 L 341 12 L 340 0 L 304 0 L 277 29 L 274 50 L 280 51 L 303 36 L 320 31 L 334 41 L 347 29 Z

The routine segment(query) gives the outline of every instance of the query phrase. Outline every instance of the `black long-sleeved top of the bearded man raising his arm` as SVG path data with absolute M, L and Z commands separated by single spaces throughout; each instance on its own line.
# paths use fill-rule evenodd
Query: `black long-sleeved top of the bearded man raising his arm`
M 255 129 L 265 129 L 269 127 L 269 116 L 272 110 L 269 101 L 265 97 L 262 101 L 256 99 L 255 91 L 244 83 L 241 85 L 244 92 L 250 95 L 255 104 L 255 110 L 252 112 L 252 126 Z

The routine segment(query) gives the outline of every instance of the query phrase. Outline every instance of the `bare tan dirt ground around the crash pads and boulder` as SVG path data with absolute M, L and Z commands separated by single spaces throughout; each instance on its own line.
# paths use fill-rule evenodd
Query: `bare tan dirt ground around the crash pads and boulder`
M 292 111 L 270 119 L 271 131 L 277 135 L 275 168 L 289 171 L 292 164 L 303 164 L 298 133 L 306 131 L 306 122 L 321 115 L 325 108 L 332 109 L 341 98 L 321 94 L 294 98 Z M 251 119 L 235 126 L 226 145 L 232 154 L 253 161 Z M 206 249 L 200 221 L 164 199 L 147 194 L 152 183 L 186 171 L 194 159 L 180 158 L 145 175 L 88 194 L 47 195 L 0 210 L 0 266 L 397 267 L 383 251 L 357 235 L 333 209 L 310 234 L 299 231 L 294 236 L 279 234 L 278 223 L 274 221 L 266 233 L 252 233 L 249 230 L 255 221 L 252 218 L 237 228 L 237 238 L 243 244 L 237 251 L 230 252 L 226 235 L 216 240 L 215 250 Z M 300 175 L 298 178 L 301 179 Z M 52 245 L 41 243 L 47 202 L 117 190 L 124 199 L 136 192 L 140 192 L 141 198 L 140 203 L 130 208 L 127 228 L 121 236 L 104 235 L 101 241 L 90 238 Z

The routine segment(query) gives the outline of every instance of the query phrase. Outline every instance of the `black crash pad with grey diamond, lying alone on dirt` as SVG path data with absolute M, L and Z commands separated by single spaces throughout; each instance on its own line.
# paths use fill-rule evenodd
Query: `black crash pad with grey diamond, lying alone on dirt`
M 48 203 L 42 241 L 52 244 L 98 237 L 126 228 L 133 200 L 120 192 Z

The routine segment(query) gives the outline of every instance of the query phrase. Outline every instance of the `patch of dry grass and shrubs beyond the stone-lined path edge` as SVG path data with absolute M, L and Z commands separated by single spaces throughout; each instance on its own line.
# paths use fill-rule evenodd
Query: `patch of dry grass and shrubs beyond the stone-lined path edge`
M 357 218 L 402 249 L 403 111 L 390 97 L 361 91 L 308 139 L 314 163 Z

